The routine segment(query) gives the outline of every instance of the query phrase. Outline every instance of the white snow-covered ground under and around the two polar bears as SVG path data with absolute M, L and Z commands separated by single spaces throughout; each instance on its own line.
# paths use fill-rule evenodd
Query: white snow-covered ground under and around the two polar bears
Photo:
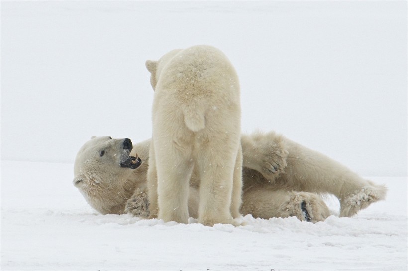
M 1 161 L 2 270 L 407 270 L 407 177 L 370 178 L 387 200 L 353 218 L 206 227 L 98 214 L 72 172 Z

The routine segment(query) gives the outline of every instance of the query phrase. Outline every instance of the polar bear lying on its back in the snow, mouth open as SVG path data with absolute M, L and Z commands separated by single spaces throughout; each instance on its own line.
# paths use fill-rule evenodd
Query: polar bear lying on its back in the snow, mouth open
M 150 143 L 148 139 L 133 146 L 126 139 L 92 138 L 75 159 L 74 186 L 102 214 L 128 213 L 148 218 Z M 330 215 L 322 195 L 336 196 L 339 215 L 345 217 L 385 199 L 384 185 L 365 180 L 329 157 L 275 132 L 241 135 L 241 146 L 242 215 L 264 219 L 295 216 L 315 223 Z M 139 160 L 136 157 L 142 161 L 140 166 L 130 167 L 130 160 Z M 194 218 L 198 217 L 197 183 L 198 174 L 193 170 L 188 208 Z

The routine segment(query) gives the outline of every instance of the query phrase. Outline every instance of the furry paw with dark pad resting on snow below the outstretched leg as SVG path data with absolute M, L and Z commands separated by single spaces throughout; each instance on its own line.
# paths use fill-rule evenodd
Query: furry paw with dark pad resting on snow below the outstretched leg
M 296 216 L 301 221 L 324 221 L 330 211 L 324 201 L 317 195 L 308 192 L 294 192 L 290 201 L 286 203 L 283 212 L 285 217 Z

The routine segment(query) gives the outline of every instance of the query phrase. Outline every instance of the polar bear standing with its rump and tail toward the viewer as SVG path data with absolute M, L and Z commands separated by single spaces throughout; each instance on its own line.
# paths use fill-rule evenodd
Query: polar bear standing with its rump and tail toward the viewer
M 234 67 L 207 45 L 173 50 L 158 61 L 146 61 L 146 67 L 155 91 L 147 174 L 151 217 L 158 210 L 165 222 L 188 223 L 189 182 L 196 168 L 199 223 L 232 223 L 241 216 L 242 191 Z

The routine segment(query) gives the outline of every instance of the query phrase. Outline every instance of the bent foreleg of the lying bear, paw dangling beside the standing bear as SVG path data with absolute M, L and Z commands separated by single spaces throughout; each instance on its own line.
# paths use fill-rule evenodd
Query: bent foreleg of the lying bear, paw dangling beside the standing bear
M 241 135 L 243 167 L 260 172 L 273 182 L 286 167 L 288 151 L 281 135 L 255 132 Z

